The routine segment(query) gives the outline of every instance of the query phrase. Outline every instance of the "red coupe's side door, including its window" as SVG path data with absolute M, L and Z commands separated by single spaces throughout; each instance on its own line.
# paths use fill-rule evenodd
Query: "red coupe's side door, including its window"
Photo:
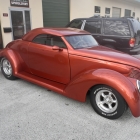
M 63 84 L 70 81 L 68 51 L 61 37 L 49 34 L 35 37 L 28 47 L 28 66 L 36 76 Z

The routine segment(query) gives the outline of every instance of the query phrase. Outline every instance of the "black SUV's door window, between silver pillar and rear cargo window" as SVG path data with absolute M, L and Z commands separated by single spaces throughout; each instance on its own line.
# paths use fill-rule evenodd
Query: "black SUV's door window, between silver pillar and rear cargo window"
M 101 21 L 86 21 L 84 30 L 94 34 L 100 34 Z

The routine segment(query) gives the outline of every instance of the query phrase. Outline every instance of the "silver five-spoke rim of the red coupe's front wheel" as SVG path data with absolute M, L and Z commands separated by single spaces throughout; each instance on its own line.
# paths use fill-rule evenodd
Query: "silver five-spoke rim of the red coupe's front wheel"
M 97 106 L 105 113 L 112 113 L 118 107 L 116 96 L 109 90 L 100 90 L 95 98 Z

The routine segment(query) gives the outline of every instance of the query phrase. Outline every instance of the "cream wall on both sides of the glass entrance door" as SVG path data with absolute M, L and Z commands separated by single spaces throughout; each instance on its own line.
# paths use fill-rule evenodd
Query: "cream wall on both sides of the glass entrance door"
M 22 8 L 10 6 L 10 0 L 0 0 L 0 22 L 3 38 L 3 46 L 13 40 L 12 33 L 4 33 L 3 27 L 11 27 L 11 17 L 9 8 Z M 31 15 L 31 29 L 43 27 L 42 0 L 29 0 Z M 8 13 L 8 17 L 3 17 L 3 13 Z

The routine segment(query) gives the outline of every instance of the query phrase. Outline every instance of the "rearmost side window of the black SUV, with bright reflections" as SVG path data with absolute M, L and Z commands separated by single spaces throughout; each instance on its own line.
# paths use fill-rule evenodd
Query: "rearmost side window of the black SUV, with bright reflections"
M 128 22 L 126 20 L 104 20 L 104 34 L 130 36 Z

